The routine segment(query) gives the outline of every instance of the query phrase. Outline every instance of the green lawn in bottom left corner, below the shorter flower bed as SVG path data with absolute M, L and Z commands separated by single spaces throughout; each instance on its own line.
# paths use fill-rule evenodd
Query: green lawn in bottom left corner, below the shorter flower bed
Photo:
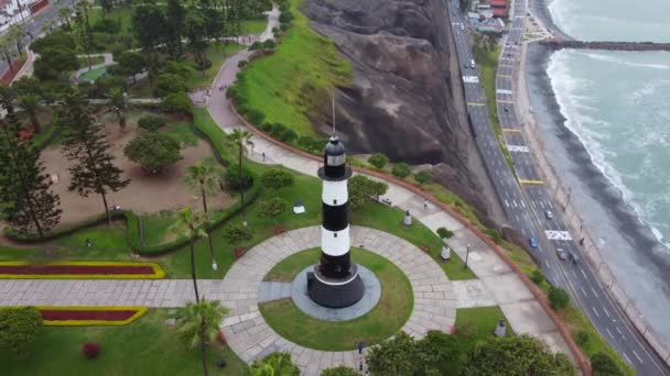
M 3 375 L 201 375 L 198 349 L 186 350 L 176 328 L 166 325 L 168 310 L 150 310 L 127 327 L 45 328 L 28 353 L 17 358 L 0 353 Z M 87 360 L 82 353 L 86 342 L 97 342 L 100 355 Z M 246 364 L 228 346 L 207 350 L 209 375 L 246 375 Z M 224 358 L 226 368 L 216 368 Z

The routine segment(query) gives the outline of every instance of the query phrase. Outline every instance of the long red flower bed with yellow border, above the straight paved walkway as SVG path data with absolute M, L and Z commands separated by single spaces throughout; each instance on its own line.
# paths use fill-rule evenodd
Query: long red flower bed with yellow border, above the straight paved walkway
M 63 262 L 31 264 L 0 262 L 0 278 L 11 279 L 160 279 L 165 272 L 154 263 Z

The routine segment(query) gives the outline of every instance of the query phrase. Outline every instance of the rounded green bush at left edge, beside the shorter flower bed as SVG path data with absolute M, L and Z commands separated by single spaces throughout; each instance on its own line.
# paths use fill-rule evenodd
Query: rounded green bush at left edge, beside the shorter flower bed
M 0 349 L 21 356 L 42 327 L 42 314 L 35 307 L 0 309 Z

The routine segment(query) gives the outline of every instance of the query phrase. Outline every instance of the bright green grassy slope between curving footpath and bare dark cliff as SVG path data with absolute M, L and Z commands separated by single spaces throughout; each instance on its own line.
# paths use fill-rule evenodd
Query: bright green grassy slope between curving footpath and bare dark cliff
M 352 66 L 335 44 L 310 29 L 290 0 L 294 20 L 274 54 L 253 60 L 239 80 L 247 106 L 266 115 L 266 122 L 283 123 L 300 135 L 316 135 L 310 118 L 331 102 L 335 86 L 349 86 Z M 260 124 L 256 124 L 260 125 Z

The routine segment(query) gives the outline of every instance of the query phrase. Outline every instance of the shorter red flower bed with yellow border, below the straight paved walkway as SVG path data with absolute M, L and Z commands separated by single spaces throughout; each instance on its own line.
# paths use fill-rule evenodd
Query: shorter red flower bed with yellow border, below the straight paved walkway
M 127 325 L 147 312 L 147 307 L 37 307 L 45 325 Z

